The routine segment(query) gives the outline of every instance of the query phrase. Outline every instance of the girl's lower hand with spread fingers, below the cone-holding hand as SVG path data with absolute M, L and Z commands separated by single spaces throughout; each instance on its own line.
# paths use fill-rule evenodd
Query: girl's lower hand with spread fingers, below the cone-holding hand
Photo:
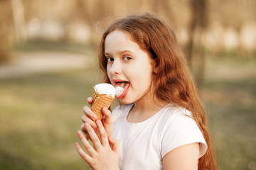
M 96 135 L 89 123 L 85 123 L 84 125 L 95 148 L 90 145 L 82 132 L 78 130 L 78 137 L 82 141 L 82 145 L 85 147 L 88 154 L 84 152 L 79 142 L 76 142 L 75 147 L 78 150 L 78 153 L 94 170 L 119 169 L 119 141 L 107 137 L 107 133 L 100 120 L 96 121 L 96 125 L 100 131 L 100 138 Z

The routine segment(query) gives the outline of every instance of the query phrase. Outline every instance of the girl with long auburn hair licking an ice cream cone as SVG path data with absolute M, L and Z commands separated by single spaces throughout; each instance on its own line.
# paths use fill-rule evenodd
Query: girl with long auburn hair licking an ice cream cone
M 76 148 L 92 169 L 218 169 L 206 113 L 171 28 L 149 13 L 119 19 L 102 36 L 105 82 L 123 89 L 105 118 L 85 106 Z M 92 98 L 87 98 L 92 103 Z M 114 140 L 113 137 L 116 139 Z

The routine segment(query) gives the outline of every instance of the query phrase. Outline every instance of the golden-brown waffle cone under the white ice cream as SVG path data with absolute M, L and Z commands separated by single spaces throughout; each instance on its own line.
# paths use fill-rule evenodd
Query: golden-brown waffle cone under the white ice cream
M 110 108 L 114 98 L 107 94 L 98 94 L 95 89 L 93 89 L 92 99 L 92 112 L 97 115 L 97 119 L 101 120 L 103 116 L 102 108 Z

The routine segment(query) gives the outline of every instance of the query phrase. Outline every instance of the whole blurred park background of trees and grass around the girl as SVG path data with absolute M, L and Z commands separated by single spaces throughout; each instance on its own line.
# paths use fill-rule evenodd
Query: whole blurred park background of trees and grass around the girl
M 188 57 L 219 169 L 256 169 L 255 9 L 255 0 L 0 0 L 0 169 L 89 169 L 75 142 L 102 81 L 97 45 L 110 22 L 144 11 L 169 22 Z

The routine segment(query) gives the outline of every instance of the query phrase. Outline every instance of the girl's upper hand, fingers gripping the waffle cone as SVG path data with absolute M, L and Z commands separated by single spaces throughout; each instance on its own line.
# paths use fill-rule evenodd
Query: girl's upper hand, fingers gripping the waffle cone
M 87 102 L 92 105 L 92 97 L 87 98 Z M 85 115 L 82 116 L 82 124 L 81 130 L 86 134 L 87 140 L 90 138 L 88 133 L 86 132 L 85 123 L 89 123 L 92 128 L 95 130 L 96 134 L 99 137 L 99 131 L 97 130 L 97 125 L 95 121 L 97 120 L 97 115 L 92 112 L 92 110 L 85 106 L 83 108 L 83 111 Z M 102 124 L 107 132 L 108 137 L 114 137 L 114 121 L 112 119 L 111 112 L 107 108 L 102 108 L 103 118 L 102 118 Z

